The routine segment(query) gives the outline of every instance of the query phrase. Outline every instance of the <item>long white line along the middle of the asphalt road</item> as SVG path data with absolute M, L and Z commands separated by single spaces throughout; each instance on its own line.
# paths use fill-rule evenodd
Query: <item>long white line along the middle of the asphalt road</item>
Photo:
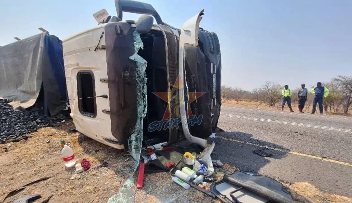
M 232 117 L 232 118 L 239 118 L 239 119 L 266 121 L 266 122 L 281 123 L 281 124 L 294 125 L 294 126 L 302 126 L 302 127 L 309 127 L 309 128 L 319 128 L 319 129 L 326 129 L 326 130 L 332 130 L 332 131 L 352 133 L 352 130 L 350 130 L 350 129 L 340 129 L 340 128 L 333 128 L 333 127 L 316 126 L 316 125 L 310 125 L 310 124 L 305 124 L 305 123 L 295 123 L 295 122 L 287 122 L 287 121 L 279 121 L 279 120 L 271 120 L 271 119 L 260 119 L 260 118 L 253 118 L 253 117 L 248 117 L 248 116 L 239 116 L 239 115 L 233 115 L 233 114 L 223 114 L 222 113 L 220 115 L 224 115 L 224 116 L 228 116 L 228 117 Z

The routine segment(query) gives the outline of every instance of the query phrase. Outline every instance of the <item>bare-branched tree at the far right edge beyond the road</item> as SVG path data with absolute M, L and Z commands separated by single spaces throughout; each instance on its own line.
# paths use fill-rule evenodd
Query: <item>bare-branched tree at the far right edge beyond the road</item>
M 352 76 L 348 77 L 339 75 L 332 80 L 337 82 L 342 91 L 344 114 L 347 114 L 352 104 Z

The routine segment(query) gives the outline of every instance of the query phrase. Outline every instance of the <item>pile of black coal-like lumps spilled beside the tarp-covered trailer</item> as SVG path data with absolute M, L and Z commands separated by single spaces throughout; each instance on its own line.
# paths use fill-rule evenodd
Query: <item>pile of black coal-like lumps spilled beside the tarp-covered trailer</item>
M 38 128 L 53 126 L 63 115 L 45 116 L 43 110 L 31 107 L 27 110 L 14 110 L 9 100 L 0 99 L 0 144 L 28 139 L 26 135 Z

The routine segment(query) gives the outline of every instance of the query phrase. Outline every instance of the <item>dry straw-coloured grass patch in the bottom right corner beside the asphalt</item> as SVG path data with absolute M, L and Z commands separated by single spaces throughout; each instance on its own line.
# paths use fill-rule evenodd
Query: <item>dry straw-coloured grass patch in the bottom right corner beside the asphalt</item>
M 329 194 L 320 191 L 314 185 L 309 183 L 293 183 L 284 184 L 289 190 L 301 195 L 311 202 L 336 202 L 336 203 L 352 203 L 352 198 L 335 194 Z

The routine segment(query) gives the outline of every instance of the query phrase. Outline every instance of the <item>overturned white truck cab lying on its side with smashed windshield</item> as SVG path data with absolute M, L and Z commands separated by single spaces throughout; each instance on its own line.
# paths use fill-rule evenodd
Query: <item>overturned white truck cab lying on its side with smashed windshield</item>
M 149 4 L 115 6 L 117 16 L 103 10 L 98 26 L 63 40 L 76 129 L 118 149 L 181 136 L 207 147 L 220 115 L 221 55 L 216 34 L 199 27 L 204 10 L 177 29 Z

